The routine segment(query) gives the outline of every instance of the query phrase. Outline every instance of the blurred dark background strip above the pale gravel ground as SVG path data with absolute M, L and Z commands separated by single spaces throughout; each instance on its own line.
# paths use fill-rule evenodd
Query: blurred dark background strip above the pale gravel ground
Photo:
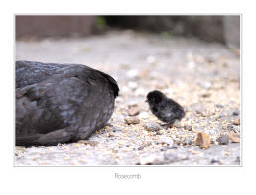
M 196 37 L 240 47 L 240 16 L 16 16 L 16 38 L 89 36 L 110 29 Z

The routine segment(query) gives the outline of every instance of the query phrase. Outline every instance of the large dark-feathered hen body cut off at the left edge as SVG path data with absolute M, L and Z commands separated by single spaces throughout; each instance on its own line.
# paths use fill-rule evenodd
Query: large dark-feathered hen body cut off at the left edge
M 119 88 L 85 65 L 16 62 L 16 146 L 55 146 L 104 127 Z

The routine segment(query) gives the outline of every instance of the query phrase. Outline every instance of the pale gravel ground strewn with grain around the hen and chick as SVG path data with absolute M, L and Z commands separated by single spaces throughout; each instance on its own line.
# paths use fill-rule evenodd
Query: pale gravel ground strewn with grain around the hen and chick
M 17 166 L 240 165 L 238 50 L 195 39 L 113 31 L 87 38 L 20 40 L 16 59 L 86 64 L 112 75 L 120 87 L 104 129 L 78 143 L 16 146 Z M 173 128 L 166 129 L 144 102 L 154 89 L 186 110 Z M 209 148 L 196 146 L 199 132 L 209 135 Z M 220 142 L 220 135 L 229 136 Z

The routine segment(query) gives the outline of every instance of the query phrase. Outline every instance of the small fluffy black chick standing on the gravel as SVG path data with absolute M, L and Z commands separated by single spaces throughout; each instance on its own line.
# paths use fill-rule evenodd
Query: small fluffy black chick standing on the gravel
M 183 107 L 160 91 L 151 91 L 147 100 L 151 112 L 161 121 L 172 125 L 185 116 Z

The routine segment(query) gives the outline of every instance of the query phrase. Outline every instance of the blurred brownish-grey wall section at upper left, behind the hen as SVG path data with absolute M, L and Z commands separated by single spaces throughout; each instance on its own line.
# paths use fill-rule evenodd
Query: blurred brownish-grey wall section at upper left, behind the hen
M 93 33 L 95 16 L 21 16 L 15 17 L 16 38 L 23 36 L 70 36 Z

